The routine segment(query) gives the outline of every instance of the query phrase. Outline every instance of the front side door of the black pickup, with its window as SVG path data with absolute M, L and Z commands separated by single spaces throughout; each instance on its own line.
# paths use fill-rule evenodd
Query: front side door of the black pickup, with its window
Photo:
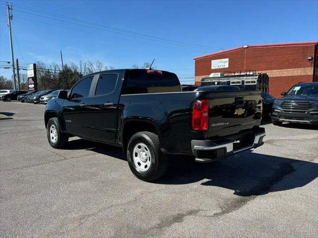
M 93 76 L 81 79 L 70 90 L 69 100 L 63 105 L 63 116 L 66 129 L 73 135 L 90 137 L 90 103 Z

